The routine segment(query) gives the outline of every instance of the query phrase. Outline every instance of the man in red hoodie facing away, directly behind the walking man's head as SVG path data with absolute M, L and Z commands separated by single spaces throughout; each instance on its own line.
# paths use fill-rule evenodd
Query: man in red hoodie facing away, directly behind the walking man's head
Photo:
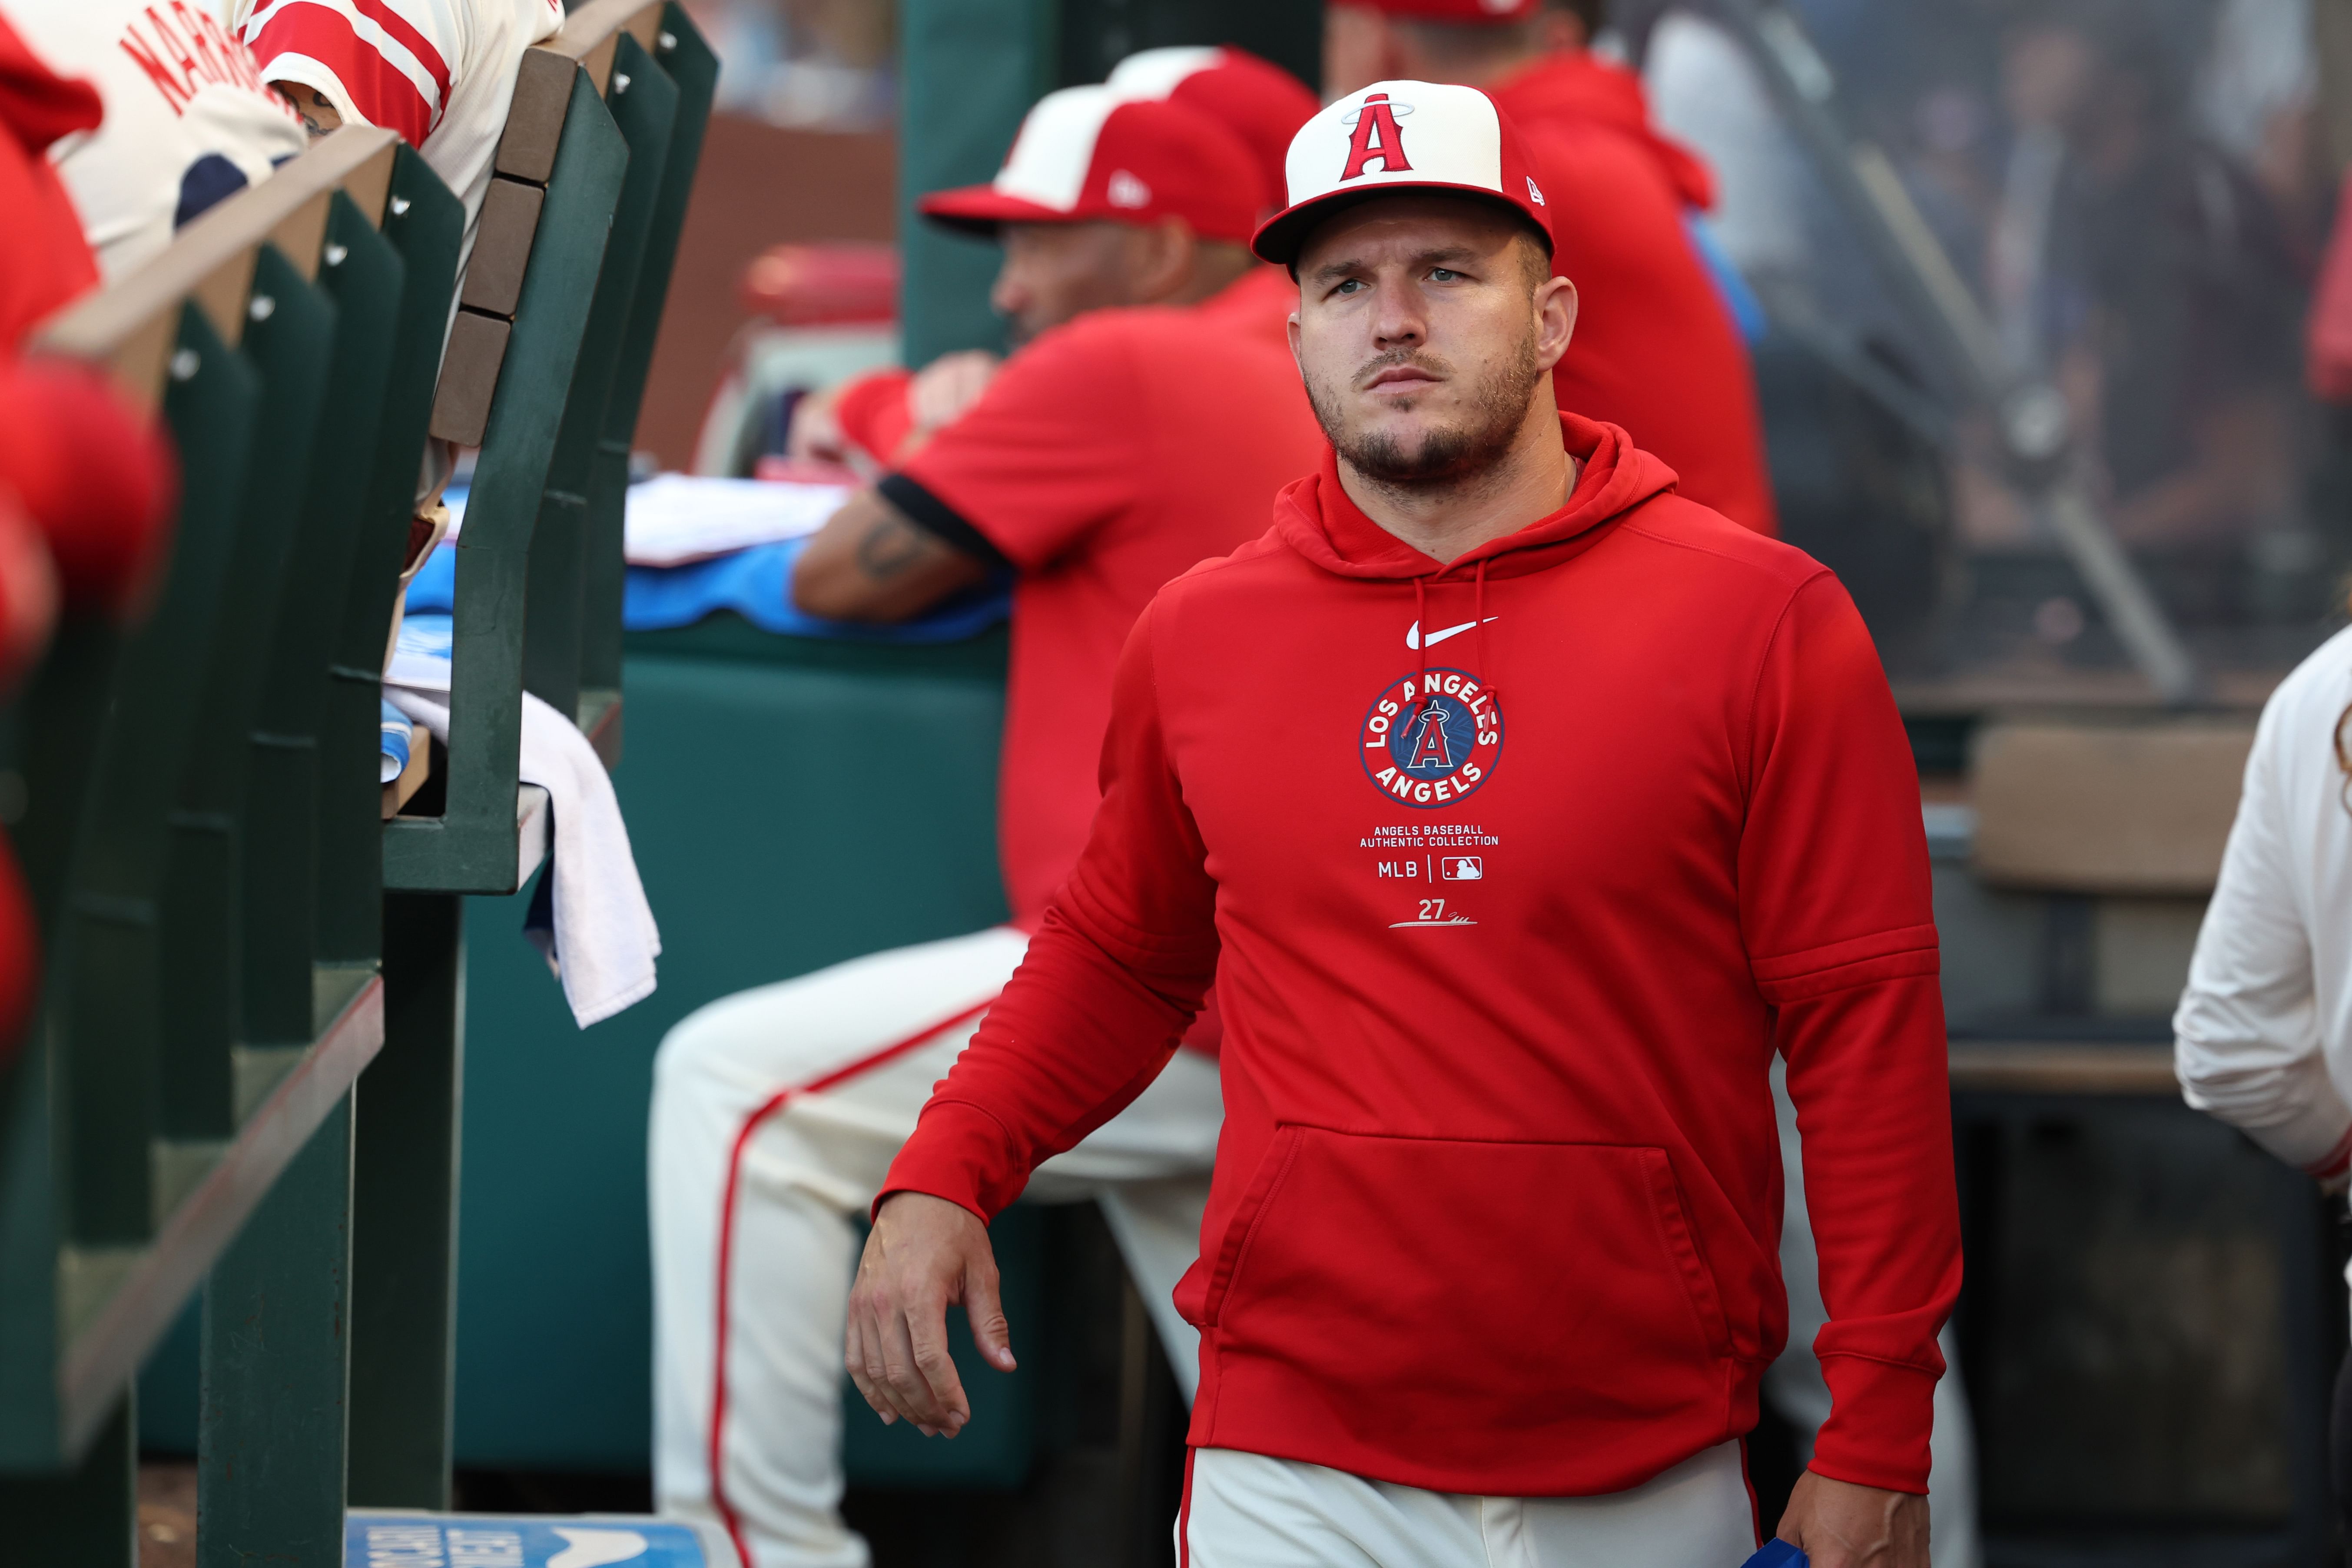
M 1684 496 L 1776 534 L 1748 348 L 1689 233 L 1715 179 L 1651 127 L 1642 80 L 1585 49 L 1602 14 L 1602 0 L 1336 0 L 1324 89 L 1416 78 L 1501 103 L 1559 212 L 1606 214 L 1559 230 L 1578 296 L 1576 341 L 1552 371 L 1559 407 L 1625 425 Z

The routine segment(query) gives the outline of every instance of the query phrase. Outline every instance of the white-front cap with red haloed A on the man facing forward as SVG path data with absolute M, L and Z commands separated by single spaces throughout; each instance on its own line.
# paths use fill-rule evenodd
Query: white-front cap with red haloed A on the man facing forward
M 1291 205 L 1251 237 L 1263 261 L 1289 266 L 1308 230 L 1343 207 L 1402 190 L 1456 190 L 1496 200 L 1552 249 L 1552 209 L 1519 132 L 1477 87 L 1374 82 L 1327 103 L 1291 136 Z

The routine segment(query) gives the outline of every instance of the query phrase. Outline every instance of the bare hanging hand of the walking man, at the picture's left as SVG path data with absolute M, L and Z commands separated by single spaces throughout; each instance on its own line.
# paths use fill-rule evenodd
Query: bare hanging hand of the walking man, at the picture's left
M 887 1422 L 955 1436 L 971 1401 L 948 1354 L 948 1302 L 962 1302 L 971 1340 L 997 1371 L 1014 1371 L 988 1227 L 960 1204 L 894 1192 L 875 1213 L 849 1288 L 849 1380 Z

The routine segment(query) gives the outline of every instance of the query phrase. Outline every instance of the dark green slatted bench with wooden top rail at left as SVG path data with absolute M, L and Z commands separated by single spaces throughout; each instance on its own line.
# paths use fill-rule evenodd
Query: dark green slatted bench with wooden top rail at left
M 541 856 L 524 689 L 619 743 L 628 433 L 715 75 L 675 5 L 593 0 L 524 59 L 468 280 L 456 197 L 350 127 L 42 331 L 158 407 L 183 496 L 155 609 L 68 623 L 5 726 L 45 943 L 0 1074 L 12 1563 L 136 1561 L 129 1389 L 198 1288 L 200 1561 L 447 1505 L 459 896 Z M 452 736 L 386 823 L 428 430 L 482 449 Z

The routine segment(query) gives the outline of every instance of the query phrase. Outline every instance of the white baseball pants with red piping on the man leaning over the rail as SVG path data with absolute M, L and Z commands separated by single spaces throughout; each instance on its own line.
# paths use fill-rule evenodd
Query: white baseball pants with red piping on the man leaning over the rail
M 743 1568 L 868 1563 L 840 1516 L 851 1218 L 1025 947 L 993 929 L 880 952 L 713 1001 L 661 1041 L 654 1497 L 727 1528 Z M 1169 1295 L 1200 1248 L 1221 1124 L 1216 1063 L 1178 1051 L 1028 1190 L 1103 1201 L 1185 1399 L 1200 1340 Z

